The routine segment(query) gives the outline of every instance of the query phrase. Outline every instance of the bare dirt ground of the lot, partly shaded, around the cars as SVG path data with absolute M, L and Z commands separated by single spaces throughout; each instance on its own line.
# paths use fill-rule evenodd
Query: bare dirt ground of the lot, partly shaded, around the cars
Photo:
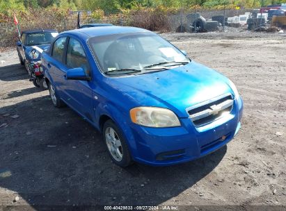
M 10 49 L 0 53 L 0 210 L 286 205 L 286 37 L 162 36 L 235 82 L 244 99 L 237 137 L 193 162 L 122 169 L 111 162 L 100 133 L 70 108 L 54 108 L 48 92 L 29 82 Z

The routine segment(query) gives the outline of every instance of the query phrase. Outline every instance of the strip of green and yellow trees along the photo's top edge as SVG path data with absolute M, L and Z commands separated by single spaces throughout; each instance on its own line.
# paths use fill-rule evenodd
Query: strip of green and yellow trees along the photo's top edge
M 56 7 L 70 10 L 140 10 L 141 8 L 214 8 L 232 5 L 239 8 L 259 8 L 270 4 L 284 3 L 285 0 L 0 0 L 0 13 L 26 11 L 33 8 Z

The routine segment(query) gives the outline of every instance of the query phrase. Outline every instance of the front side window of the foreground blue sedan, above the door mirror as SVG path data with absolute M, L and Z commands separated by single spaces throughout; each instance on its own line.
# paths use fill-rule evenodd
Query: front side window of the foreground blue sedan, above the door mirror
M 71 68 L 81 67 L 87 75 L 90 74 L 90 67 L 86 53 L 79 41 L 70 38 L 67 45 L 67 66 Z

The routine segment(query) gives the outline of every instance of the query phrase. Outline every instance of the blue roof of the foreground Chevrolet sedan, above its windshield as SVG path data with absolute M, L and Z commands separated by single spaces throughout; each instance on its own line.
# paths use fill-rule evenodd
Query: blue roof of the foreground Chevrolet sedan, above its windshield
M 150 32 L 144 28 L 136 28 L 129 26 L 98 26 L 89 28 L 78 28 L 71 31 L 65 31 L 61 34 L 75 35 L 81 38 L 100 37 L 104 35 L 116 35 L 121 33 L 141 33 Z M 150 32 L 151 33 L 151 32 Z

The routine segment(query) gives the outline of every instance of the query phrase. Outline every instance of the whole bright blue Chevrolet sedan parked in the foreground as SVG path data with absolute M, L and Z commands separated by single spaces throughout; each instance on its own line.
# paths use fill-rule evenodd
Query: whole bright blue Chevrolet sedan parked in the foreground
M 54 105 L 100 130 L 121 167 L 195 160 L 230 142 L 241 125 L 232 81 L 142 28 L 66 31 L 42 65 Z

